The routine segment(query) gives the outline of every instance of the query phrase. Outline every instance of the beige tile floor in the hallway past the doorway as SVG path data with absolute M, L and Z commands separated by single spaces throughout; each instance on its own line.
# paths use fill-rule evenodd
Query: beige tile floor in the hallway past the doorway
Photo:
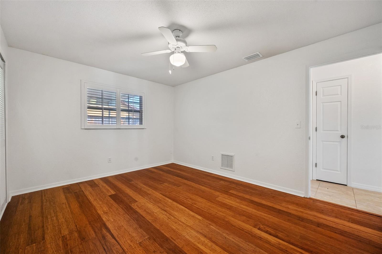
M 382 215 L 382 193 L 311 180 L 311 197 Z

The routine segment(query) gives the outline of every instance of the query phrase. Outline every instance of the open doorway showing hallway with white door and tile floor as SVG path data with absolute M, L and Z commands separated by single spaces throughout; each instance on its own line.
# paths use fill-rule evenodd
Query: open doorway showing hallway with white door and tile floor
M 310 69 L 311 198 L 382 215 L 382 54 Z

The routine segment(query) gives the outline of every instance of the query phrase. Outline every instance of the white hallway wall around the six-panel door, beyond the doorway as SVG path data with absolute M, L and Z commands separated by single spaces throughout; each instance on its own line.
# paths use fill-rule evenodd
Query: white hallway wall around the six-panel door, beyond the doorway
M 351 186 L 382 191 L 382 55 L 311 69 L 312 80 L 351 75 Z M 361 126 L 377 128 L 366 129 Z

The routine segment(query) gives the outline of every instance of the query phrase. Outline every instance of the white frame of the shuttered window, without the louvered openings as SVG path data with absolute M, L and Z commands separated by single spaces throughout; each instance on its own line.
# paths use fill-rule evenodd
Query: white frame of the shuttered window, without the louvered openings
M 117 93 L 116 108 L 117 119 L 116 124 L 88 124 L 87 123 L 87 88 L 95 88 L 100 90 L 107 90 Z M 128 93 L 133 95 L 142 96 L 142 125 L 124 125 L 121 124 L 121 93 Z M 122 87 L 115 87 L 106 84 L 81 80 L 81 129 L 146 129 L 146 98 L 145 93 L 133 89 L 126 89 Z

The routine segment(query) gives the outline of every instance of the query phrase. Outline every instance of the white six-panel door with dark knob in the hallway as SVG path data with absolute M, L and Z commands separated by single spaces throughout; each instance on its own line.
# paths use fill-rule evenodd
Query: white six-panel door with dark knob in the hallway
M 317 82 L 316 178 L 347 184 L 348 79 Z

